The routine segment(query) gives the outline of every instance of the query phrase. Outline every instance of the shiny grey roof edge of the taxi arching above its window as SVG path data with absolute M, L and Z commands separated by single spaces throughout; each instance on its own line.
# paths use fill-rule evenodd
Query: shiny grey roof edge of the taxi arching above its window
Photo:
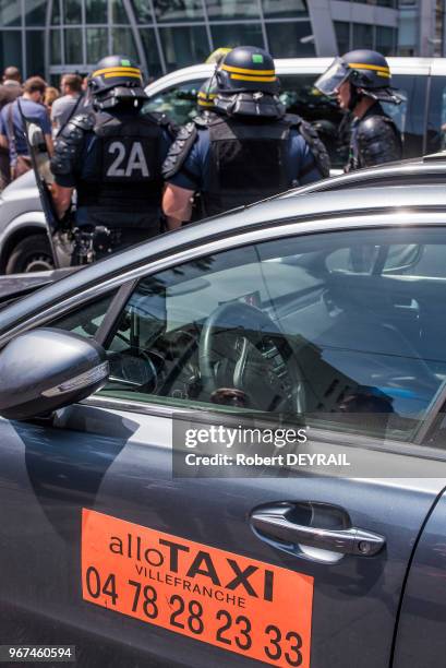
M 302 196 L 266 200 L 241 207 L 220 216 L 186 225 L 173 232 L 160 235 L 37 290 L 2 311 L 0 333 L 7 332 L 12 323 L 28 317 L 31 311 L 38 312 L 50 300 L 56 303 L 68 296 L 76 295 L 87 286 L 98 285 L 106 278 L 135 269 L 148 261 L 194 246 L 203 246 L 221 237 L 231 237 L 256 227 L 267 227 L 270 222 L 299 223 L 310 218 L 316 219 L 321 229 L 324 229 L 324 218 L 352 216 L 357 226 L 360 218 L 354 217 L 355 213 L 405 212 L 408 208 L 446 211 L 445 187 L 434 184 L 358 188 L 348 191 L 317 192 L 302 194 Z

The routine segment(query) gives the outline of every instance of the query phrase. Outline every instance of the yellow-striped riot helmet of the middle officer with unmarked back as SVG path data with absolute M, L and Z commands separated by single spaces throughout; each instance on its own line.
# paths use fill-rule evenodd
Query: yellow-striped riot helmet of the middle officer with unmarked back
M 285 106 L 273 57 L 257 47 L 236 47 L 215 71 L 215 107 L 228 116 L 281 118 Z

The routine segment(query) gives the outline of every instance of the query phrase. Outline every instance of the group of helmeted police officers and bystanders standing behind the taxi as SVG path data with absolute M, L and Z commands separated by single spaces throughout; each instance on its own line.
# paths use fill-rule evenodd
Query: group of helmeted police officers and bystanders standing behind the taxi
M 351 117 L 346 170 L 398 159 L 401 139 L 381 102 L 398 104 L 390 70 L 376 51 L 337 58 L 315 82 Z M 107 230 L 95 258 L 309 183 L 329 174 L 314 128 L 287 114 L 272 56 L 225 49 L 197 97 L 192 122 L 176 128 L 146 112 L 142 72 L 124 56 L 98 62 L 88 79 L 64 74 L 60 91 L 39 76 L 23 85 L 8 68 L 0 86 L 0 188 L 31 168 L 23 117 L 45 136 L 55 208 L 73 226 Z M 198 195 L 198 196 L 197 196 Z

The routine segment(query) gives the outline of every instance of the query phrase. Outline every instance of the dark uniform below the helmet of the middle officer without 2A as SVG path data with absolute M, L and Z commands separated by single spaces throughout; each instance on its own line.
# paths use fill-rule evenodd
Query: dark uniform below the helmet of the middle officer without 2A
M 180 130 L 164 165 L 168 182 L 201 193 L 206 216 L 328 172 L 325 146 L 298 116 L 246 119 L 208 112 Z

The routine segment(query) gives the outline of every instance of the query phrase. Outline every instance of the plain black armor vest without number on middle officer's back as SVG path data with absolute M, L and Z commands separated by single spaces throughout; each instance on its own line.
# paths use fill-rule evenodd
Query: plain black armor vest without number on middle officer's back
M 210 172 L 202 192 L 206 216 L 251 204 L 291 187 L 287 169 L 292 123 L 286 119 L 215 117 L 208 123 Z

